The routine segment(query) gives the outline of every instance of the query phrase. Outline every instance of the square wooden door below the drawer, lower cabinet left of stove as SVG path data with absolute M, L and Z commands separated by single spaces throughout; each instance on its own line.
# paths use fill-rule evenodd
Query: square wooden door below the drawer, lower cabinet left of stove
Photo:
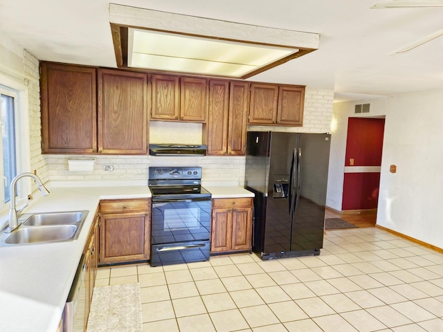
M 146 217 L 145 213 L 102 214 L 100 264 L 149 259 Z

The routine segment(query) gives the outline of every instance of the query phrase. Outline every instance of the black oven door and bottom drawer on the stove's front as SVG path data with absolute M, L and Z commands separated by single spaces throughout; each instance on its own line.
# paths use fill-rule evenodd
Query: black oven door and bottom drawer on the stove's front
M 211 206 L 210 197 L 153 199 L 151 266 L 208 260 Z

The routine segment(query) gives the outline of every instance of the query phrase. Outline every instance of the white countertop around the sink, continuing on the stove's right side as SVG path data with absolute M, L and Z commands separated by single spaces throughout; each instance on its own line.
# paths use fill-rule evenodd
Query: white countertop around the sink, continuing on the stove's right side
M 254 196 L 235 183 L 204 187 L 214 199 Z M 52 183 L 48 189 L 51 194 L 46 197 L 33 193 L 24 214 L 89 213 L 75 241 L 0 247 L 0 331 L 56 331 L 100 200 L 152 196 L 145 183 Z

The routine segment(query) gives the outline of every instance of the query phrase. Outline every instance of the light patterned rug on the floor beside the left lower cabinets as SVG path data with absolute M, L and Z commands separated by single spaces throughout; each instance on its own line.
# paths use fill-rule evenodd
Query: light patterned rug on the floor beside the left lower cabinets
M 142 332 L 140 284 L 94 288 L 87 332 Z

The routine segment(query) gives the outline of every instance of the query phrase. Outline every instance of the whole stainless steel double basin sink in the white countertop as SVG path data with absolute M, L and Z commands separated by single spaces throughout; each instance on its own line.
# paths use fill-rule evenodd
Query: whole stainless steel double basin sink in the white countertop
M 22 214 L 19 228 L 0 241 L 0 246 L 74 241 L 78 239 L 87 214 L 87 210 Z

